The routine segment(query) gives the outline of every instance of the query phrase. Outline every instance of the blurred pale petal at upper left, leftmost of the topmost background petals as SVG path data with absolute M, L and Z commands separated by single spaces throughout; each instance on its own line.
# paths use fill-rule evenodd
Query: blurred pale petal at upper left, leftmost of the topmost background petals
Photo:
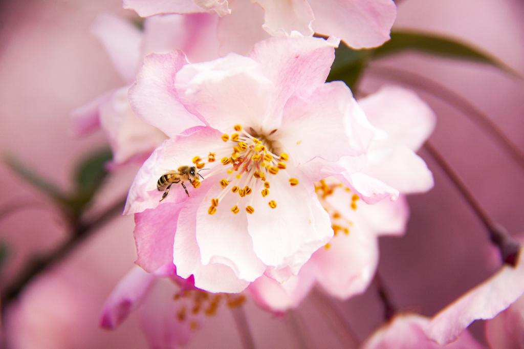
M 98 15 L 91 26 L 126 83 L 135 80 L 142 58 L 142 33 L 129 20 L 108 13 Z

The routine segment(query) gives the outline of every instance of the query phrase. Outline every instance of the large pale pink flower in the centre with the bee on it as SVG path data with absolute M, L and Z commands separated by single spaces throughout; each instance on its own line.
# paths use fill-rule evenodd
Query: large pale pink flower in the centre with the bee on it
M 239 292 L 265 272 L 297 274 L 331 239 L 310 179 L 324 167 L 307 163 L 362 156 L 374 137 L 347 86 L 324 83 L 335 43 L 270 39 L 249 57 L 196 64 L 179 51 L 146 58 L 130 103 L 171 138 L 144 163 L 128 195 L 140 266 L 155 272 L 174 262 L 198 288 Z M 177 135 L 180 125 L 203 123 Z M 194 177 L 196 189 L 186 180 L 189 197 L 174 184 L 159 202 L 162 174 L 192 163 L 206 167 L 205 180 Z

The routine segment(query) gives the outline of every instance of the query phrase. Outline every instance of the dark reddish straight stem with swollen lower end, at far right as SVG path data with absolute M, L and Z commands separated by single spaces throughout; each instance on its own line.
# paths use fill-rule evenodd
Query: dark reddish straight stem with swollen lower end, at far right
M 475 212 L 478 219 L 484 224 L 488 231 L 490 240 L 498 247 L 500 256 L 504 263 L 515 266 L 519 251 L 519 243 L 508 234 L 503 226 L 495 223 L 495 221 L 489 217 L 481 204 L 478 203 L 473 194 L 467 189 L 459 175 L 429 141 L 424 144 L 424 149 L 444 171 L 447 178 L 451 180 L 455 188 L 459 190 L 464 200 L 466 200 L 468 205 L 470 205 L 471 209 Z

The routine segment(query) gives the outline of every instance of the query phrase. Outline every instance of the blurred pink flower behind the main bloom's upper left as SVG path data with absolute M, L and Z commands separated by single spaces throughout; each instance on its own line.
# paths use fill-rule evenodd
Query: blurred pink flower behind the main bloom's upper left
M 102 126 L 115 163 L 143 160 L 166 139 L 165 134 L 133 113 L 127 99 L 129 84 L 135 80 L 143 57 L 151 52 L 181 49 L 192 61 L 216 58 L 215 28 L 216 19 L 208 14 L 147 18 L 144 31 L 123 18 L 99 15 L 92 26 L 93 34 L 102 42 L 126 85 L 73 111 L 75 131 L 83 134 Z

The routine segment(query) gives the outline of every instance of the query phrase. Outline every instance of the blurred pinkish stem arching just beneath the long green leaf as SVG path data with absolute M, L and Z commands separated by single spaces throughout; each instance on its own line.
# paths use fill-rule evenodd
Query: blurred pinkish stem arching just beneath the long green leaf
M 409 85 L 452 105 L 481 127 L 484 132 L 497 141 L 500 146 L 505 148 L 517 164 L 524 169 L 524 151 L 509 139 L 503 130 L 501 130 L 497 124 L 489 118 L 489 116 L 467 101 L 464 97 L 446 88 L 441 83 L 423 77 L 420 74 L 397 68 L 373 66 L 373 68 L 366 71 L 366 74 L 376 75 L 380 78 Z

